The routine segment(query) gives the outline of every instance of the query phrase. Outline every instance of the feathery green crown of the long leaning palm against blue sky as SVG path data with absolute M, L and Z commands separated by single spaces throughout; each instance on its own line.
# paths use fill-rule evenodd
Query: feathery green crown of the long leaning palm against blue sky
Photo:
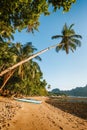
M 68 54 L 69 50 L 74 52 L 77 47 L 81 46 L 81 41 L 79 39 L 82 39 L 82 36 L 75 33 L 74 29 L 72 29 L 73 26 L 74 24 L 67 26 L 65 23 L 61 32 L 62 35 L 52 36 L 52 39 L 62 38 L 60 44 L 56 46 L 56 52 L 59 50 L 64 50 Z

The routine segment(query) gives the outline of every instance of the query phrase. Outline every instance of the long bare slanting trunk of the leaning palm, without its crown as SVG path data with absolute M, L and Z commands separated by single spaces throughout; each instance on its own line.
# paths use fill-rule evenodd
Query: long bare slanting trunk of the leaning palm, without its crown
M 0 76 L 3 76 L 3 75 L 6 74 L 7 72 L 9 72 L 9 71 L 11 71 L 11 70 L 17 68 L 18 66 L 20 66 L 20 65 L 22 65 L 22 64 L 24 64 L 24 63 L 26 63 L 26 62 L 28 62 L 29 60 L 35 58 L 36 56 L 38 56 L 38 55 L 40 55 L 40 54 L 42 54 L 42 53 L 44 53 L 44 52 L 46 52 L 46 51 L 48 51 L 48 50 L 50 50 L 50 49 L 52 49 L 52 48 L 55 48 L 56 46 L 59 46 L 59 45 L 60 45 L 60 44 L 56 44 L 56 45 L 50 46 L 50 47 L 48 47 L 48 48 L 45 48 L 45 49 L 43 49 L 43 50 L 37 52 L 36 54 L 30 56 L 29 58 L 24 59 L 24 60 L 18 62 L 17 64 L 13 65 L 12 67 L 9 67 L 9 68 L 5 69 L 4 71 L 2 71 L 2 72 L 0 73 Z

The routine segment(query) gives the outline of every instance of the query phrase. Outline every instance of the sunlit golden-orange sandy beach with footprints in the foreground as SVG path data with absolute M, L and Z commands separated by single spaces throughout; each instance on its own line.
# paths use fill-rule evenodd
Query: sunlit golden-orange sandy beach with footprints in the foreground
M 87 119 L 64 111 L 47 97 L 41 104 L 0 97 L 0 130 L 87 130 Z M 87 113 L 86 113 L 87 114 Z

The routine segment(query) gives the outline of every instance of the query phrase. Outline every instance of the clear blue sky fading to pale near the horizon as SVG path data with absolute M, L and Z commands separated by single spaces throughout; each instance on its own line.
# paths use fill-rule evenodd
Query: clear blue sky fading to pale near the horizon
M 61 34 L 65 23 L 68 26 L 74 23 L 75 32 L 83 37 L 82 45 L 68 55 L 64 51 L 56 53 L 55 49 L 40 55 L 42 61 L 38 64 L 43 72 L 43 79 L 51 85 L 51 90 L 71 90 L 87 84 L 87 0 L 77 0 L 67 13 L 60 9 L 56 13 L 52 12 L 50 16 L 42 15 L 39 32 L 31 34 L 23 30 L 14 35 L 15 42 L 32 42 L 40 51 L 60 42 L 58 39 L 52 40 L 51 37 Z

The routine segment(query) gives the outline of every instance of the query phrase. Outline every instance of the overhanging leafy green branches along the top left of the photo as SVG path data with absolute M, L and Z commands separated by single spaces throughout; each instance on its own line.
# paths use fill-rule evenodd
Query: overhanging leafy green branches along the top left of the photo
M 0 39 L 13 39 L 15 30 L 24 28 L 30 32 L 38 30 L 39 18 L 42 14 L 49 15 L 49 5 L 54 10 L 63 7 L 69 11 L 76 0 L 1 0 L 0 1 Z

